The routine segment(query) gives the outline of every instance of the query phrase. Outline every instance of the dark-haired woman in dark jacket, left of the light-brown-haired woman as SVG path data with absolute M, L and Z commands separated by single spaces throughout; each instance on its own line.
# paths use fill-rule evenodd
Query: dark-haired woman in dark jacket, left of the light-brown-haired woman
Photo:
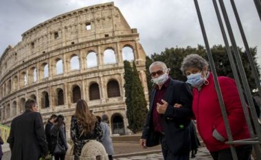
M 53 154 L 55 160 L 64 160 L 66 155 L 66 150 L 68 148 L 67 141 L 66 141 L 66 133 L 65 133 L 65 117 L 63 115 L 58 115 L 57 118 L 54 120 L 54 126 L 51 128 L 51 139 L 52 139 L 52 146 Z M 54 152 L 57 145 L 60 145 L 62 148 L 65 148 L 65 152 L 63 153 L 56 153 Z

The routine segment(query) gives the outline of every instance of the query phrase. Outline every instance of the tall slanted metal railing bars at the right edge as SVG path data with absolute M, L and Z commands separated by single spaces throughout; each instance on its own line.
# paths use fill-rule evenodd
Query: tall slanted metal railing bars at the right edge
M 218 0 L 219 5 L 220 5 L 220 10 L 223 14 L 223 19 L 225 21 L 225 25 L 227 26 L 227 32 L 229 34 L 229 39 L 231 41 L 233 54 L 234 54 L 233 55 L 232 52 L 231 52 L 231 49 L 229 47 L 229 42 L 227 40 L 227 34 L 225 32 L 225 27 L 223 25 L 223 21 L 221 19 L 220 11 L 219 11 L 219 8 L 218 8 L 218 3 L 216 2 L 216 0 L 212 0 L 212 1 L 213 1 L 213 4 L 214 4 L 214 8 L 215 8 L 216 16 L 217 16 L 218 23 L 219 23 L 219 26 L 220 26 L 220 30 L 221 30 L 222 35 L 223 35 L 223 40 L 225 42 L 227 55 L 229 57 L 231 69 L 233 71 L 233 75 L 234 75 L 234 78 L 236 80 L 236 85 L 238 87 L 238 92 L 239 92 L 239 95 L 240 95 L 240 101 L 242 103 L 242 108 L 243 108 L 243 111 L 244 111 L 244 114 L 245 114 L 247 126 L 249 128 L 249 133 L 250 133 L 250 136 L 251 136 L 250 139 L 240 139 L 240 140 L 236 140 L 236 141 L 233 140 L 233 137 L 231 135 L 231 129 L 230 129 L 230 126 L 229 126 L 229 122 L 228 122 L 228 119 L 227 119 L 225 104 L 223 102 L 223 97 L 222 97 L 222 94 L 221 94 L 221 91 L 220 91 L 220 86 L 218 84 L 218 76 L 217 76 L 216 69 L 215 69 L 215 66 L 214 66 L 214 60 L 212 58 L 212 53 L 211 53 L 211 50 L 210 50 L 210 47 L 209 47 L 209 43 L 208 43 L 208 40 L 207 40 L 207 34 L 205 32 L 204 23 L 203 23 L 203 19 L 202 19 L 202 16 L 201 16 L 201 11 L 200 11 L 200 8 L 199 8 L 199 5 L 198 5 L 198 1 L 194 0 L 196 12 L 197 12 L 197 15 L 198 15 L 198 21 L 201 25 L 201 32 L 203 34 L 205 47 L 207 49 L 207 56 L 208 56 L 208 59 L 209 59 L 209 65 L 210 65 L 210 68 L 212 69 L 212 73 L 213 73 L 213 77 L 214 77 L 214 84 L 215 84 L 216 92 L 218 94 L 218 100 L 219 100 L 219 103 L 220 103 L 220 108 L 221 108 L 223 120 L 225 122 L 225 128 L 226 128 L 227 135 L 228 135 L 228 141 L 226 141 L 225 143 L 230 145 L 232 157 L 233 157 L 234 160 L 238 160 L 238 157 L 236 155 L 236 148 L 234 147 L 235 144 L 251 144 L 251 145 L 253 145 L 253 150 L 256 152 L 257 159 L 261 159 L 261 150 L 260 150 L 260 147 L 259 147 L 259 145 L 261 144 L 261 128 L 260 128 L 260 125 L 258 124 L 258 117 L 256 115 L 256 110 L 254 108 L 253 99 L 251 97 L 251 91 L 250 91 L 250 88 L 249 88 L 249 84 L 247 82 L 247 77 L 246 77 L 246 74 L 245 74 L 244 67 L 242 65 L 242 60 L 241 60 L 240 54 L 238 52 L 238 46 L 236 45 L 234 33 L 233 33 L 233 30 L 232 30 L 231 25 L 230 25 L 229 17 L 227 15 L 227 11 L 226 11 L 224 2 L 223 2 L 223 0 Z M 258 93 L 261 97 L 260 81 L 259 81 L 257 69 L 254 65 L 254 61 L 253 61 L 253 58 L 252 58 L 250 50 L 249 50 L 247 38 L 246 38 L 245 32 L 242 28 L 242 24 L 241 24 L 240 17 L 238 15 L 238 11 L 236 9 L 236 5 L 234 3 L 234 0 L 230 0 L 230 1 L 231 1 L 231 6 L 232 6 L 233 11 L 234 11 L 234 15 L 236 16 L 236 21 L 238 23 L 240 34 L 242 36 L 242 41 L 245 45 L 245 49 L 246 49 L 246 52 L 247 52 L 246 54 L 247 54 L 247 57 L 249 59 L 251 70 L 253 72 L 253 77 L 255 78 L 256 86 L 258 88 Z M 261 20 L 261 1 L 260 0 L 254 0 L 254 1 L 255 1 L 255 4 L 256 4 L 256 8 L 258 10 L 258 15 L 260 16 L 260 20 Z M 236 64 L 235 64 L 235 61 L 236 61 Z M 242 82 L 242 85 L 240 83 L 240 80 Z M 246 99 L 245 99 L 244 94 L 246 95 Z M 246 100 L 247 100 L 247 102 L 246 102 Z M 249 104 L 249 106 L 247 106 L 247 104 Z M 249 113 L 248 108 L 250 108 L 250 113 Z M 253 126 L 251 124 L 251 119 L 252 119 L 252 122 L 253 122 L 253 126 L 256 129 L 255 130 L 256 134 L 254 133 Z

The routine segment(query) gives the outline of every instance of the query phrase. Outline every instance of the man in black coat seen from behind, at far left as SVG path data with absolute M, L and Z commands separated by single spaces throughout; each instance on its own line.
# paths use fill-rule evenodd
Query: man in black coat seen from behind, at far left
M 38 160 L 48 154 L 45 130 L 35 100 L 25 102 L 25 112 L 12 120 L 8 143 L 11 160 Z

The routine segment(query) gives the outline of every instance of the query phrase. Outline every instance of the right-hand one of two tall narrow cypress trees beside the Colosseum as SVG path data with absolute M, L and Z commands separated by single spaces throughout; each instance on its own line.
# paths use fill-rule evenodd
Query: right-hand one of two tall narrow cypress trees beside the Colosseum
M 144 95 L 144 89 L 139 80 L 135 62 L 133 61 L 133 79 L 131 84 L 131 104 L 127 106 L 128 128 L 137 133 L 143 129 L 148 113 L 147 102 Z

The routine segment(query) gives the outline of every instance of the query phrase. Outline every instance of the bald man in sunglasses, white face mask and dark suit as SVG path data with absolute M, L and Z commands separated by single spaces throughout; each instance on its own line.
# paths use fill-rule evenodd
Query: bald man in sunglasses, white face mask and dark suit
M 161 144 L 165 160 L 190 159 L 190 128 L 193 117 L 192 93 L 185 82 L 168 76 L 164 62 L 150 65 L 150 76 L 155 83 L 150 109 L 140 139 L 143 148 Z M 182 107 L 173 107 L 181 104 Z

